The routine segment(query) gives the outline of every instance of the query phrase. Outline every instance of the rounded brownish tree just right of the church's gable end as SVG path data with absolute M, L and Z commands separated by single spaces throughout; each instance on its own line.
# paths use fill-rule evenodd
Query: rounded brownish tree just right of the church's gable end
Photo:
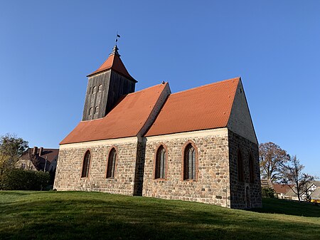
M 259 145 L 259 158 L 262 177 L 276 182 L 281 179 L 282 168 L 289 161 L 290 156 L 279 145 L 265 142 Z

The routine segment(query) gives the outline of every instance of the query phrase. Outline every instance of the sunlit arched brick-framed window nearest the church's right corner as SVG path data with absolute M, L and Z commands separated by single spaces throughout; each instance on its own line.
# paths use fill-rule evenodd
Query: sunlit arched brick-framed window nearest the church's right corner
M 184 149 L 183 180 L 196 179 L 196 150 L 189 143 Z

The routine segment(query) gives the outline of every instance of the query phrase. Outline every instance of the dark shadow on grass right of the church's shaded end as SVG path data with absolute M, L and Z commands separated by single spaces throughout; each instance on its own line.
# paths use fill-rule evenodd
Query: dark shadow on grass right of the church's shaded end
M 320 206 L 310 202 L 297 202 L 285 199 L 262 199 L 261 209 L 250 209 L 251 212 L 287 214 L 293 216 L 320 217 Z

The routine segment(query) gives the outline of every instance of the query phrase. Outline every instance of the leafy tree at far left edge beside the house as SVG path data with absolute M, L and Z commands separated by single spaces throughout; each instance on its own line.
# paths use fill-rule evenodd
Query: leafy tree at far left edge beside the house
M 0 137 L 0 176 L 16 166 L 19 157 L 28 149 L 28 142 L 7 133 Z

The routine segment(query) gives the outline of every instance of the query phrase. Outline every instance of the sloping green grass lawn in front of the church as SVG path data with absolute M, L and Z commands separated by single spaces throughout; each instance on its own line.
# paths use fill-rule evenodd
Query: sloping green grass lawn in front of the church
M 320 207 L 264 208 L 99 192 L 0 192 L 0 239 L 320 239 Z

